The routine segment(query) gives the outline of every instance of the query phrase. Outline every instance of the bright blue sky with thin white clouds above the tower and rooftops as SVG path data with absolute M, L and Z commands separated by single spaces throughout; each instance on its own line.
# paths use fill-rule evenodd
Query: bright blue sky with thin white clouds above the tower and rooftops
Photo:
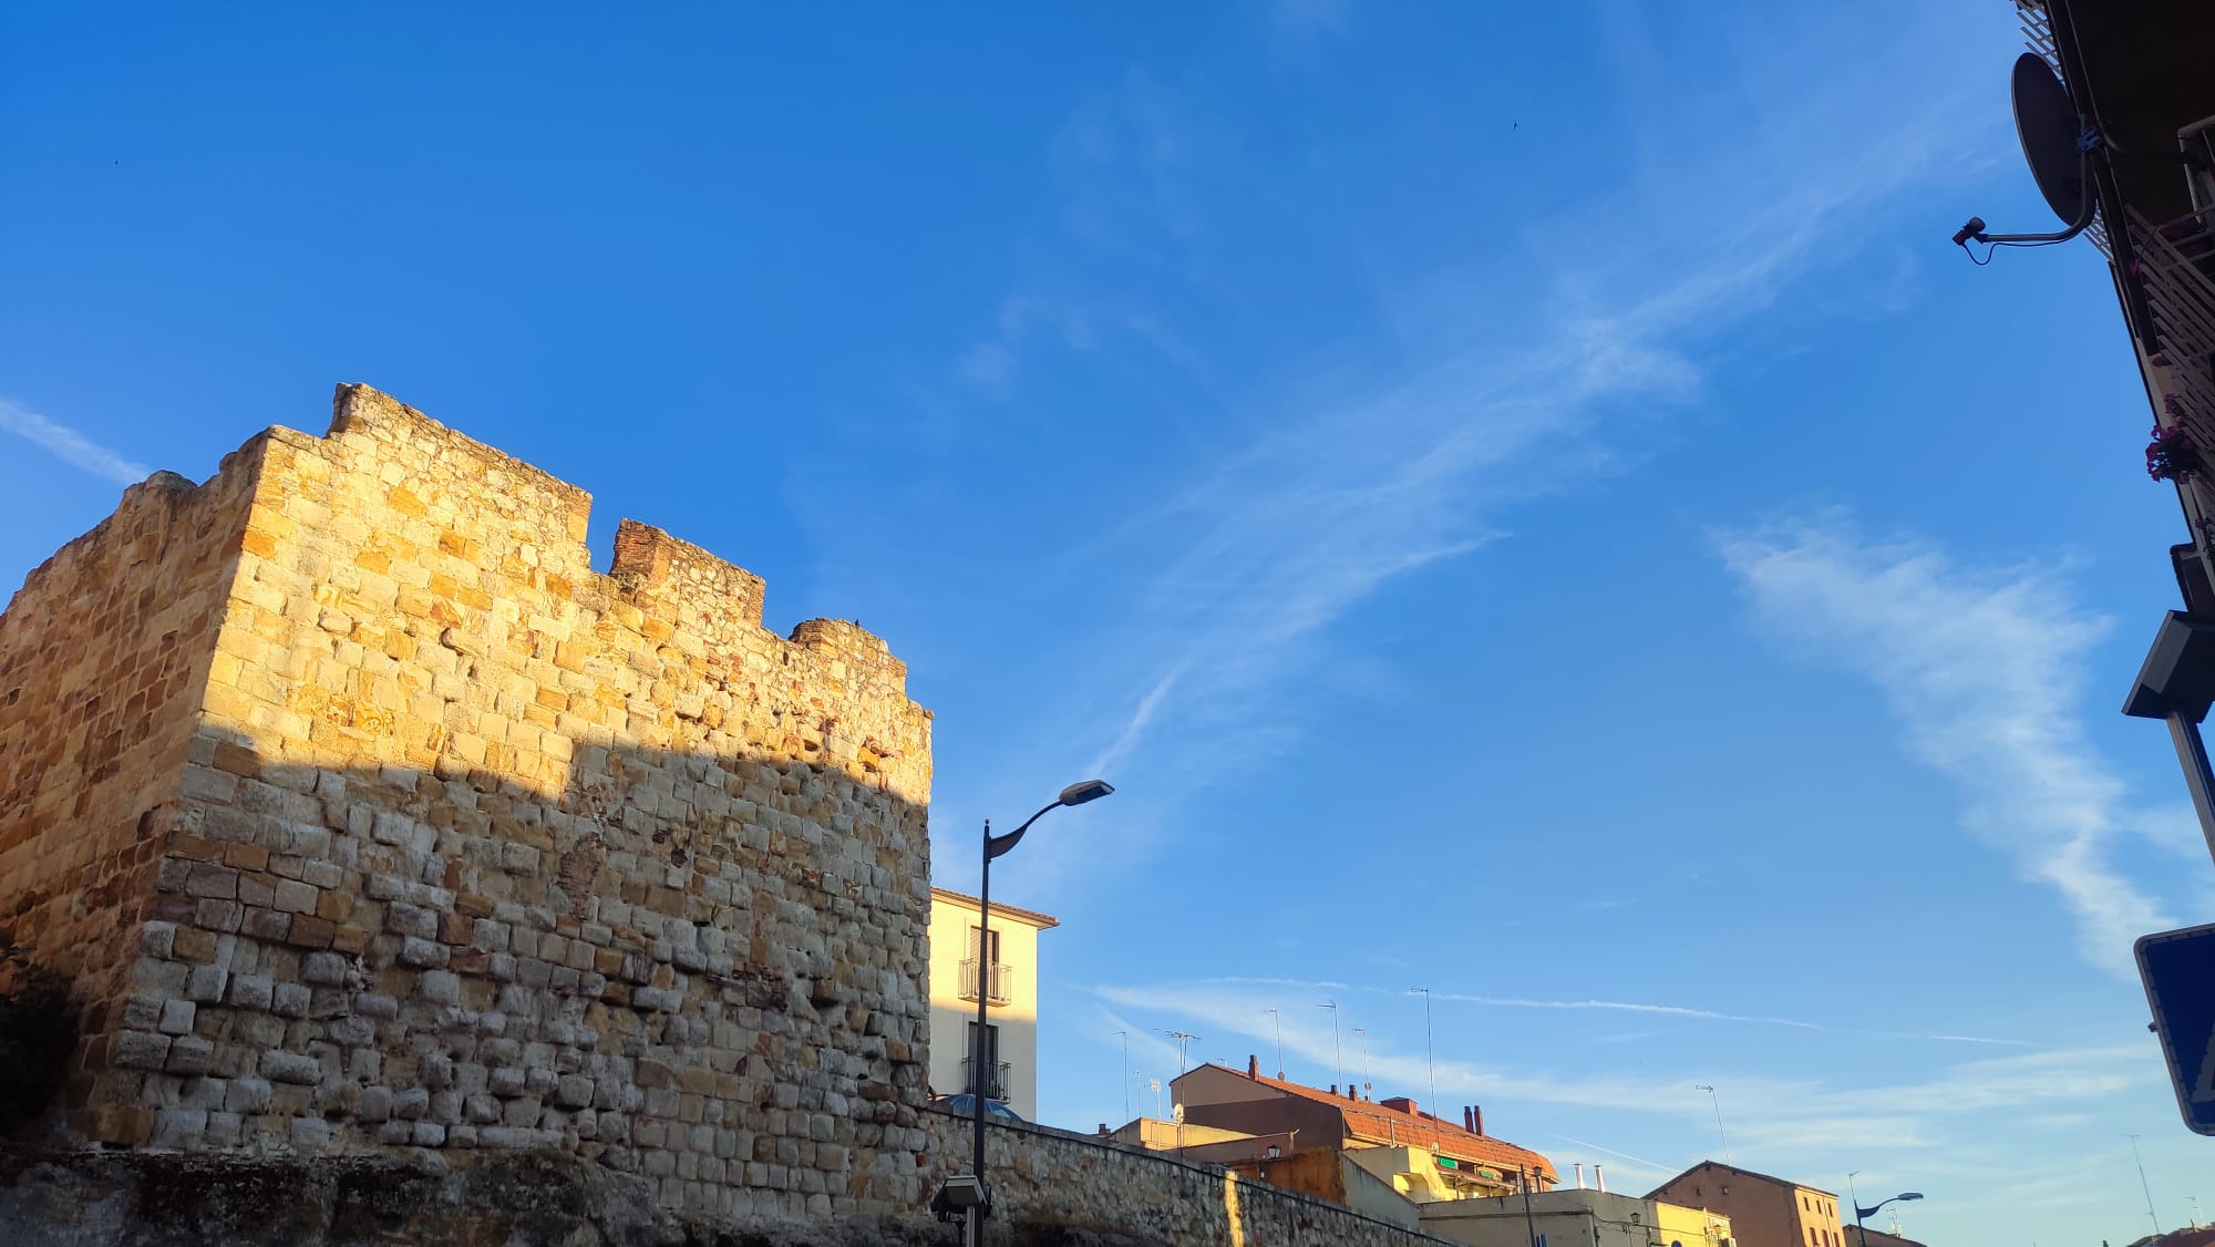
M 886 636 L 941 884 L 1121 789 L 995 879 L 1048 1121 L 1325 999 L 1422 1094 L 1420 983 L 1617 1189 L 1712 1083 L 1918 1238 L 2215 1214 L 2175 503 L 2100 257 L 1947 246 L 2044 228 L 2011 7 L 1681 9 L 16 11 L 0 580 L 368 381 Z

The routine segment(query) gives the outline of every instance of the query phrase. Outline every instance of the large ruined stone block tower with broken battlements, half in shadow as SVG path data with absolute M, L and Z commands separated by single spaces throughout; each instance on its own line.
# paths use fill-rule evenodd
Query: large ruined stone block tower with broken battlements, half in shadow
M 0 614 L 0 932 L 69 1127 L 556 1150 L 749 1216 L 913 1212 L 930 713 L 842 620 L 365 385 L 157 474 Z

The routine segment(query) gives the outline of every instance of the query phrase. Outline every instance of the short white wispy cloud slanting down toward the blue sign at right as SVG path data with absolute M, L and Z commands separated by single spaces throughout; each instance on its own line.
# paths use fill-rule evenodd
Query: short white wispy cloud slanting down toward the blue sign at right
M 2084 740 L 2084 656 L 2109 620 L 2047 571 L 1867 540 L 1836 512 L 1717 547 L 1765 627 L 1885 691 L 1914 755 L 1960 789 L 1962 824 L 2060 895 L 2087 961 L 2133 979 L 2131 941 L 2175 924 L 2109 857 L 2162 822 Z

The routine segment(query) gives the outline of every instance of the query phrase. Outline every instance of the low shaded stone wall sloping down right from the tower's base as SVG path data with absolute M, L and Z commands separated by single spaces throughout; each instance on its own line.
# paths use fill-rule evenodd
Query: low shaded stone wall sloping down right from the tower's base
M 926 1110 L 941 1172 L 966 1172 L 975 1123 Z M 1349 1207 L 1041 1125 L 986 1123 L 986 1183 L 995 1243 L 1034 1238 L 1037 1227 L 1132 1236 L 1170 1247 L 1415 1247 L 1446 1243 Z M 1052 1240 L 1052 1236 L 1043 1236 Z

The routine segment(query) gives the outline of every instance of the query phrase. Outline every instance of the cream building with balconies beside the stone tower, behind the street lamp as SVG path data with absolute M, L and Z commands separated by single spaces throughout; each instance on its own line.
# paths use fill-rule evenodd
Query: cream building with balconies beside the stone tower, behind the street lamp
M 983 1090 L 1023 1119 L 1039 1114 L 1039 932 L 1061 919 L 992 901 L 990 932 L 979 901 L 930 888 L 930 1090 L 972 1092 L 977 994 L 986 1003 Z

